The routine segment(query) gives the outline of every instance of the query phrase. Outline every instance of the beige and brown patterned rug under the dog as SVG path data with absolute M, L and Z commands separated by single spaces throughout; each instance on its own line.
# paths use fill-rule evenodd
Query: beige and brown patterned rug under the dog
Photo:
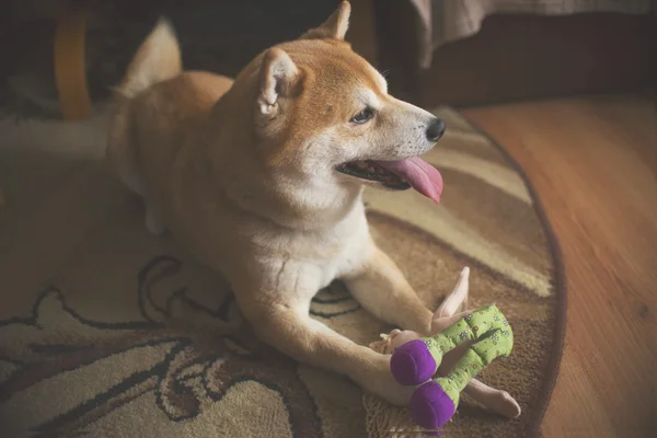
M 466 396 L 451 437 L 538 431 L 558 369 L 558 249 L 523 177 L 449 108 L 428 160 L 443 201 L 368 192 L 380 245 L 436 308 L 465 265 L 471 306 L 497 302 L 510 359 L 481 378 L 517 397 L 508 420 Z M 220 278 L 143 227 L 104 168 L 104 122 L 0 123 L 0 424 L 4 437 L 402 437 L 403 410 L 256 342 Z M 339 284 L 313 318 L 369 344 L 389 326 Z M 419 435 L 417 435 L 419 436 Z

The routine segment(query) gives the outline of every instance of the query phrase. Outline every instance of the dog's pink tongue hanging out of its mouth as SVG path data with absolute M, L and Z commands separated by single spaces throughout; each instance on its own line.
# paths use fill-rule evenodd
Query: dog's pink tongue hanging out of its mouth
M 436 168 L 423 159 L 415 157 L 408 160 L 376 161 L 376 163 L 407 181 L 413 188 L 426 197 L 440 203 L 442 176 Z

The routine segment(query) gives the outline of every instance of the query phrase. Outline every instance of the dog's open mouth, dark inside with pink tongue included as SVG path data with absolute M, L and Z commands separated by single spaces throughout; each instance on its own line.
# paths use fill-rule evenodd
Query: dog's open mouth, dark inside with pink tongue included
M 351 161 L 336 170 L 345 175 L 381 183 L 390 189 L 415 188 L 426 197 L 440 201 L 442 176 L 431 164 L 415 157 L 399 161 Z

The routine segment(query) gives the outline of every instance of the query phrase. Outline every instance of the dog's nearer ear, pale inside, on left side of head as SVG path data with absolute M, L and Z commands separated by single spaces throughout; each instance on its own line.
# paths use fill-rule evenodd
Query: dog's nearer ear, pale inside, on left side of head
M 278 112 L 280 97 L 297 95 L 301 87 L 301 73 L 285 50 L 270 48 L 263 57 L 257 105 L 264 115 Z

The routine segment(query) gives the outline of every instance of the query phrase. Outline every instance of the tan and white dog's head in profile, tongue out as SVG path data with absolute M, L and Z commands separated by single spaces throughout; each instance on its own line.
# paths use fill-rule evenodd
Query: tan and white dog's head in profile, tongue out
M 343 2 L 320 27 L 261 57 L 258 151 L 275 172 L 313 184 L 413 186 L 438 201 L 440 174 L 417 157 L 445 123 L 388 94 L 385 79 L 344 41 L 349 11 Z

